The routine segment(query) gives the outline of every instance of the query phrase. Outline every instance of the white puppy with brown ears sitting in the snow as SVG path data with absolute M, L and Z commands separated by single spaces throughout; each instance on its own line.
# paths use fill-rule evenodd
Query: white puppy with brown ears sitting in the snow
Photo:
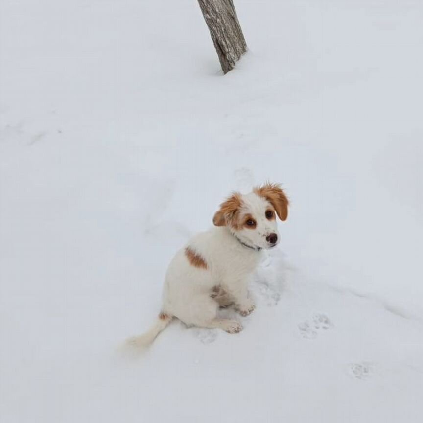
M 281 220 L 288 215 L 288 199 L 277 184 L 246 195 L 233 193 L 214 214 L 215 226 L 195 235 L 176 253 L 167 269 L 157 322 L 130 342 L 147 346 L 173 317 L 189 326 L 239 332 L 242 326 L 237 321 L 219 319 L 217 311 L 230 304 L 242 316 L 254 310 L 248 277 L 262 250 L 278 244 L 276 214 Z

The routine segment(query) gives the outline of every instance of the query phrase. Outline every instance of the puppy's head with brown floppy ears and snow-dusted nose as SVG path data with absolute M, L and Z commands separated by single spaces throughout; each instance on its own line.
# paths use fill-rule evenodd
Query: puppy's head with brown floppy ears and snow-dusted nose
M 246 245 L 272 248 L 278 244 L 276 215 L 288 217 L 288 199 L 277 184 L 266 184 L 241 195 L 233 193 L 213 217 L 216 226 L 227 226 Z

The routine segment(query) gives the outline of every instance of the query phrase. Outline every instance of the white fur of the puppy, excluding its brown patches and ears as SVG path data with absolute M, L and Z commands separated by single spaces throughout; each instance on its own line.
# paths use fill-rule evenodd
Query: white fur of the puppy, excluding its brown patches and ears
M 272 207 L 267 200 L 253 192 L 242 195 L 241 199 L 240 219 L 251 214 L 257 222 L 256 228 L 235 230 L 219 226 L 190 239 L 176 253 L 167 269 L 162 313 L 168 317 L 162 316 L 147 333 L 132 338 L 132 343 L 148 345 L 173 317 L 190 326 L 221 328 L 229 333 L 242 329 L 236 321 L 219 319 L 217 311 L 219 306 L 232 303 L 244 316 L 254 310 L 247 289 L 248 278 L 262 258 L 262 249 L 274 246 L 266 241 L 266 236 L 275 233 L 279 240 L 279 234 L 276 219 L 268 220 L 265 216 L 266 210 Z M 186 247 L 204 258 L 207 269 L 189 262 Z M 212 298 L 213 294 L 215 298 Z

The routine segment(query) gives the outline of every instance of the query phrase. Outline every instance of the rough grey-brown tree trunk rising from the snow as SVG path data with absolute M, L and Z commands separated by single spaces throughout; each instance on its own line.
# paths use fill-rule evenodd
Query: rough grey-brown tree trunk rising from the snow
M 234 69 L 247 51 L 244 35 L 232 0 L 198 0 L 210 30 L 223 73 Z

